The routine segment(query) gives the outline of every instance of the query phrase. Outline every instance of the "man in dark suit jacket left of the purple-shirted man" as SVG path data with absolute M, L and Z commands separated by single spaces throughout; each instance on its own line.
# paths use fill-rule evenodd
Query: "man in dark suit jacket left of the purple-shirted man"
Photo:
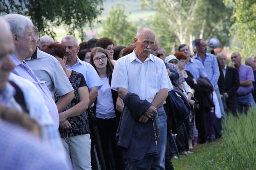
M 222 67 L 222 71 L 225 77 L 225 91 L 223 99 L 225 99 L 225 103 L 227 108 L 226 112 L 230 111 L 233 115 L 237 115 L 236 110 L 236 93 L 240 86 L 239 73 L 238 70 L 227 66 L 227 55 L 223 52 L 217 55 L 217 58 L 220 61 L 220 65 Z M 223 100 L 222 100 L 223 101 Z

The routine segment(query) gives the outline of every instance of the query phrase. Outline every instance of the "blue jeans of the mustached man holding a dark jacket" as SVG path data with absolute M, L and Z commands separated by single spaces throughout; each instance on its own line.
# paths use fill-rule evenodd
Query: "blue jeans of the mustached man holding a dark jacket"
M 157 109 L 158 112 L 158 120 L 159 120 L 159 129 L 160 136 L 157 138 L 157 152 L 158 154 L 154 156 L 153 162 L 150 170 L 165 170 L 165 151 L 166 151 L 166 142 L 167 142 L 167 116 L 164 111 L 164 107 L 161 106 Z M 154 115 L 154 124 L 156 129 L 156 134 L 158 135 L 158 123 L 157 123 L 157 115 Z M 155 140 L 155 139 L 154 139 Z M 141 162 L 141 164 L 148 162 L 147 158 L 143 158 L 142 160 L 136 161 L 137 164 Z M 150 159 L 149 159 L 150 160 Z M 141 168 L 134 167 L 129 160 L 126 162 L 126 170 L 141 170 Z

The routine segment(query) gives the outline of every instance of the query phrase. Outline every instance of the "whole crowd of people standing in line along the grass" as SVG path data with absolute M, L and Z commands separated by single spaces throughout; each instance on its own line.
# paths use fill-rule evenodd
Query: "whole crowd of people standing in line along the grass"
M 39 38 L 0 18 L 0 165 L 4 169 L 173 170 L 171 159 L 222 137 L 226 114 L 255 107 L 256 58 L 207 53 L 203 39 L 166 55 L 153 30 L 134 44 Z M 14 162 L 15 161 L 15 162 Z

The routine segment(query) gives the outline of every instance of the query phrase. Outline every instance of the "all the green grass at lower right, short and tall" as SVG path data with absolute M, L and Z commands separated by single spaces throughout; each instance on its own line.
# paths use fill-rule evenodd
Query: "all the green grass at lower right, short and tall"
M 193 154 L 172 160 L 175 170 L 256 170 L 256 108 L 227 116 L 222 139 L 199 144 Z

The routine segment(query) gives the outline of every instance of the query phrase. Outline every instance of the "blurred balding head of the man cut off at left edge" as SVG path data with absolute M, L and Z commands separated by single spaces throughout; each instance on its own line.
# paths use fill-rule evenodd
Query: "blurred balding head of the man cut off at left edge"
M 0 91 L 5 88 L 9 73 L 15 67 L 10 58 L 14 50 L 10 26 L 0 18 Z

